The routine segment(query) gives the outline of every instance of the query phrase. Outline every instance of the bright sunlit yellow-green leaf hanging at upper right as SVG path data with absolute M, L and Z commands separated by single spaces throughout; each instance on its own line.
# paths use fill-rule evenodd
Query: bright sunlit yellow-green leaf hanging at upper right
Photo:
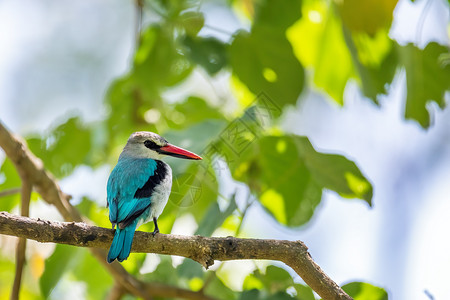
M 315 85 L 343 104 L 347 82 L 354 78 L 364 95 L 377 103 L 377 96 L 386 93 L 398 66 L 388 29 L 376 25 L 370 33 L 352 31 L 342 24 L 336 10 L 319 1 L 305 3 L 303 10 L 308 18 L 300 19 L 287 35 L 296 56 L 313 69 Z

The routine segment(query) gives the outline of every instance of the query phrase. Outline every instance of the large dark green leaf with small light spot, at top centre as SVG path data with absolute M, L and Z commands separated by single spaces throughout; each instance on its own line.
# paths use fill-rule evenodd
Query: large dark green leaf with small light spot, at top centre
M 250 33 L 240 31 L 229 49 L 233 73 L 254 94 L 293 104 L 304 85 L 304 70 L 285 31 L 301 17 L 300 1 L 262 1 Z

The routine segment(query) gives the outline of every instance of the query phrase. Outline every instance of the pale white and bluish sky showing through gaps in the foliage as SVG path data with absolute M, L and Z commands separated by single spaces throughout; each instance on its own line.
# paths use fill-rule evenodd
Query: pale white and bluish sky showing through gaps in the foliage
M 19 134 L 45 130 L 74 109 L 86 120 L 100 119 L 105 89 L 130 62 L 130 3 L 0 1 L 0 119 Z M 424 6 L 428 12 L 421 17 Z M 206 9 L 211 27 L 233 32 L 240 26 L 220 6 Z M 418 34 L 420 18 L 423 29 Z M 443 0 L 402 0 L 391 36 L 421 47 L 430 40 L 448 45 L 448 23 Z M 226 39 L 226 34 L 212 29 L 202 34 Z M 89 63 L 78 66 L 71 55 L 87 56 Z M 213 84 L 223 90 L 224 80 L 226 76 Z M 386 288 L 394 300 L 429 299 L 424 290 L 435 299 L 450 299 L 450 109 L 436 111 L 435 125 L 428 131 L 405 122 L 404 87 L 405 74 L 399 72 L 381 108 L 363 99 L 354 85 L 346 90 L 344 108 L 311 91 L 284 122 L 286 130 L 307 135 L 317 149 L 353 159 L 374 184 L 373 209 L 326 192 L 304 229 L 287 230 L 269 218 L 261 224 L 256 206 L 244 231 L 249 236 L 305 241 L 313 258 L 340 284 L 371 282 Z M 197 92 L 213 97 L 210 90 Z M 36 101 L 42 97 L 45 101 Z M 98 186 L 106 182 L 108 172 L 107 167 L 96 172 L 80 168 L 62 182 L 63 188 L 76 197 L 90 193 L 102 199 L 104 189 Z M 83 181 L 89 177 L 96 184 Z M 80 186 L 86 190 L 80 191 Z

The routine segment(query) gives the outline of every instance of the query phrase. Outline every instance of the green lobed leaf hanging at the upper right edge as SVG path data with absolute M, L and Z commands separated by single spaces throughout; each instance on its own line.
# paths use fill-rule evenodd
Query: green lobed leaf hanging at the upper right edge
M 423 128 L 430 126 L 427 104 L 435 102 L 445 107 L 444 94 L 450 89 L 450 65 L 440 57 L 448 55 L 447 47 L 435 42 L 421 50 L 413 44 L 399 47 L 400 61 L 406 71 L 405 118 L 414 119 Z

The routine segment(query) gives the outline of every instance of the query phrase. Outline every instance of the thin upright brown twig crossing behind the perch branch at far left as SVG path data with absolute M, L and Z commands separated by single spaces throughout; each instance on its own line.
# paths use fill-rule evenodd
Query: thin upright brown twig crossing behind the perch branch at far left
M 30 198 L 32 185 L 24 172 L 19 171 L 19 175 L 22 179 L 21 208 L 20 208 L 21 215 L 24 217 L 28 217 L 30 214 Z M 16 273 L 14 276 L 14 283 L 11 291 L 11 300 L 19 299 L 20 285 L 22 283 L 23 267 L 25 265 L 26 246 L 27 240 L 25 238 L 19 238 L 16 248 Z

